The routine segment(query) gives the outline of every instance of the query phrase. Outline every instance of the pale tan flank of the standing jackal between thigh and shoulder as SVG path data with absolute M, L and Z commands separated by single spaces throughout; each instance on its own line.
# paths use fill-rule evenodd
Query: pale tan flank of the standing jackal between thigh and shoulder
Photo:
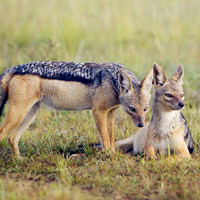
M 92 108 L 92 87 L 75 81 L 42 80 L 42 102 L 56 110 Z

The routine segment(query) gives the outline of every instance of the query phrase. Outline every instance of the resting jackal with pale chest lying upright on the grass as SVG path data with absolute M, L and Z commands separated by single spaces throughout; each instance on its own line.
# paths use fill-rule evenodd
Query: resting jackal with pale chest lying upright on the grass
M 156 153 L 168 155 L 176 153 L 190 158 L 193 141 L 186 120 L 181 113 L 184 107 L 183 67 L 168 80 L 165 72 L 153 66 L 155 97 L 153 115 L 150 123 L 139 129 L 133 136 L 116 142 L 118 148 L 130 150 L 134 154 L 144 151 L 145 156 L 153 158 Z

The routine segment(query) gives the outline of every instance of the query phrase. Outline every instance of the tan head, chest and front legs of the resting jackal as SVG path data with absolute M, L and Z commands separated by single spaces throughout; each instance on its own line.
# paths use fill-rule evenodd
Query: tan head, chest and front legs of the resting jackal
M 168 80 L 162 69 L 154 66 L 154 114 L 145 140 L 145 155 L 149 158 L 155 157 L 156 152 L 167 155 L 170 150 L 182 157 L 190 157 L 184 141 L 184 124 L 180 121 L 179 103 L 184 100 L 182 79 L 182 67 L 178 67 L 177 72 Z

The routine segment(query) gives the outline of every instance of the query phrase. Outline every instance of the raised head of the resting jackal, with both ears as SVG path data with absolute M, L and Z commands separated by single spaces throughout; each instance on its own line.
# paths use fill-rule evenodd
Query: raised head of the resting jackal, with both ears
M 157 64 L 154 64 L 154 102 L 159 105 L 159 109 L 170 111 L 181 110 L 184 107 L 183 76 L 182 65 L 177 68 L 177 71 L 168 80 L 165 72 Z

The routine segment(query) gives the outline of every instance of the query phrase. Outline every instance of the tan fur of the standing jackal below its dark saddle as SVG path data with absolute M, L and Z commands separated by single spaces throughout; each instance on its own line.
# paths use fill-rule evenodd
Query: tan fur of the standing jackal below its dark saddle
M 145 87 L 145 89 L 142 89 L 139 96 L 133 89 L 129 76 L 123 72 L 124 78 L 128 80 L 125 84 L 128 83 L 130 86 L 126 94 L 120 88 L 121 102 L 126 101 L 122 105 L 125 109 L 128 109 L 127 105 L 135 107 L 139 99 L 140 107 L 148 106 L 151 85 L 147 79 L 151 79 L 151 74 L 147 75 L 140 86 Z M 11 133 L 9 142 L 15 156 L 20 155 L 19 139 L 23 131 L 34 120 L 41 103 L 56 110 L 92 109 L 104 150 L 110 149 L 115 152 L 114 116 L 120 105 L 120 100 L 110 82 L 105 81 L 95 88 L 93 85 L 80 82 L 42 79 L 34 75 L 5 75 L 2 79 L 2 87 L 8 91 L 9 110 L 0 128 L 0 141 Z M 145 99 L 143 95 L 147 98 Z M 137 109 L 139 110 L 140 107 Z M 136 112 L 132 119 L 137 123 L 138 120 L 144 122 L 145 114 L 146 111 Z M 130 115 L 133 114 L 130 113 Z

